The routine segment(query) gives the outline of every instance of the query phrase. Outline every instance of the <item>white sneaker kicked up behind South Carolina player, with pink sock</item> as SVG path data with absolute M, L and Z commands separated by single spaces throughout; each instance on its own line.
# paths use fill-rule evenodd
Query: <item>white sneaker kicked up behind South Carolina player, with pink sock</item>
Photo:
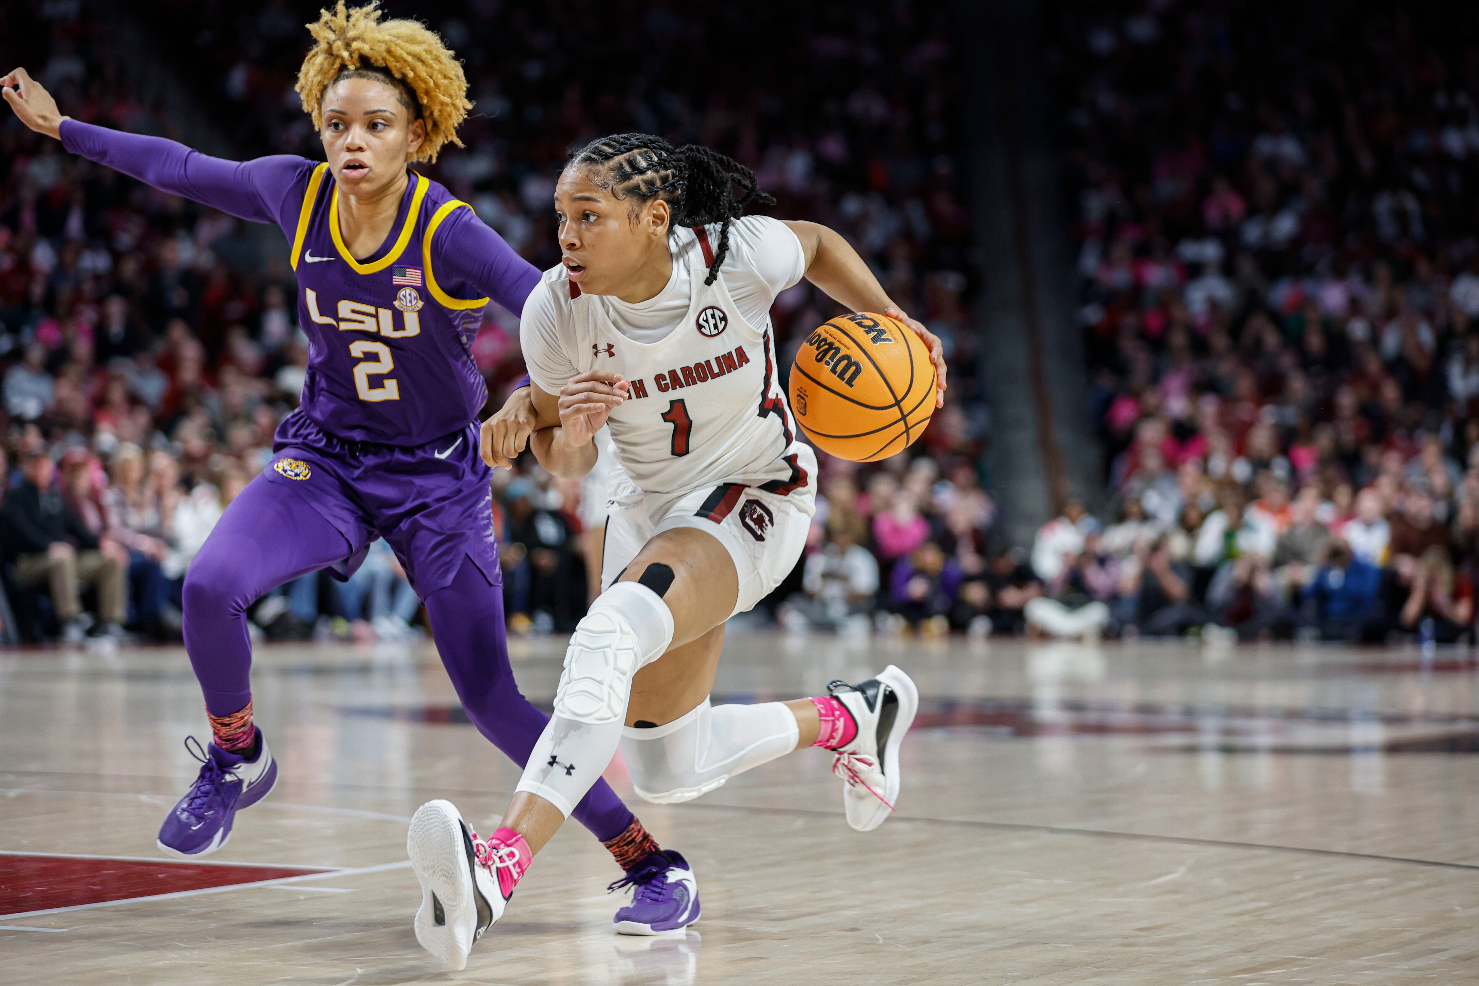
M 920 693 L 892 664 L 861 684 L 833 681 L 827 693 L 858 726 L 852 742 L 834 751 L 833 773 L 843 779 L 847 825 L 868 832 L 883 825 L 899 800 L 899 745 L 914 724 Z

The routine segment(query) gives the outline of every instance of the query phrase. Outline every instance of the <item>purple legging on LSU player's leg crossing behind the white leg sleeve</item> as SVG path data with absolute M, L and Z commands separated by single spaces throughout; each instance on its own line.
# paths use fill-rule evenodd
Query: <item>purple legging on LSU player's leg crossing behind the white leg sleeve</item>
M 488 584 L 476 565 L 463 559 L 453 584 L 426 597 L 426 613 L 467 717 L 522 767 L 549 717 L 524 698 L 513 680 L 503 593 Z M 605 781 L 596 781 L 574 815 L 600 841 L 621 835 L 632 825 L 632 810 Z

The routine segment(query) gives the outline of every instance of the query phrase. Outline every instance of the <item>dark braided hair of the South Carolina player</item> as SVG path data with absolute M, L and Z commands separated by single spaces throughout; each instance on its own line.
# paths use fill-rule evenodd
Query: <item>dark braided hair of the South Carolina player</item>
M 617 133 L 571 152 L 571 164 L 598 171 L 596 185 L 615 198 L 633 200 L 633 211 L 661 198 L 673 210 L 669 232 L 679 226 L 719 223 L 719 250 L 704 284 L 713 284 L 729 254 L 729 223 L 751 203 L 774 205 L 754 171 L 698 143 L 674 148 L 649 133 Z M 740 195 L 735 195 L 735 186 Z

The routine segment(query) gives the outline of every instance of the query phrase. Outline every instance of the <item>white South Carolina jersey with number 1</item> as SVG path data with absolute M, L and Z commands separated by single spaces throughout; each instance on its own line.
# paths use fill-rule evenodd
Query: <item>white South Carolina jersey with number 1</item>
M 747 217 L 731 226 L 732 239 L 734 226 L 745 222 L 751 232 L 763 229 L 760 223 L 781 226 Z M 670 237 L 674 271 L 683 265 L 689 297 L 686 309 L 677 307 L 680 319 L 660 330 L 620 331 L 614 310 L 623 303 L 583 294 L 563 265 L 546 271 L 525 303 L 521 344 L 541 390 L 559 393 L 571 377 L 590 370 L 620 373 L 630 381 L 629 399 L 608 424 L 617 466 L 643 494 L 737 483 L 784 495 L 815 482 L 816 460 L 797 441 L 768 319 L 757 327 L 741 315 L 722 271 L 711 285 L 704 284 L 717 237 L 717 226 Z M 800 242 L 790 239 L 799 254 Z M 737 262 L 737 253 L 731 251 L 726 266 Z M 800 271 L 791 282 L 799 276 Z M 762 299 L 760 312 L 769 309 L 771 297 Z

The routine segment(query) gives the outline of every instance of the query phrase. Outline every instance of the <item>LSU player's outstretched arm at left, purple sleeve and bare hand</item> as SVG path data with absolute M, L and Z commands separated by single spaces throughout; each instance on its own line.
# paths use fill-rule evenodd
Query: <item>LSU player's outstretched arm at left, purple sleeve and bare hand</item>
M 300 171 L 312 167 L 306 158 L 288 155 L 223 161 L 164 137 L 80 123 L 62 115 L 52 93 L 24 68 L 0 77 L 0 96 L 10 103 L 21 123 L 56 137 L 72 154 L 106 164 L 161 192 L 182 195 L 251 222 L 278 222 L 277 205 L 282 195 L 294 188 Z

